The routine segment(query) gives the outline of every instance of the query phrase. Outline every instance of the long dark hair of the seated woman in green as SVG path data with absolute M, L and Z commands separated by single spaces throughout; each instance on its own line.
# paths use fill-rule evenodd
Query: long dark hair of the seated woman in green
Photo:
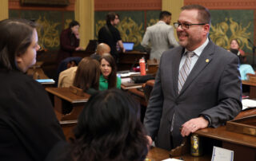
M 108 77 L 108 88 L 116 88 L 117 86 L 117 66 L 115 65 L 114 58 L 109 53 L 104 53 L 99 62 L 102 64 L 102 59 L 110 63 L 112 68 L 110 76 Z

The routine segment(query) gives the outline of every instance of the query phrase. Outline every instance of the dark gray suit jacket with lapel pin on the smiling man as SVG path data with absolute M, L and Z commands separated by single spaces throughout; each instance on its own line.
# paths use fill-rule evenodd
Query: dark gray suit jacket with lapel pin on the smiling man
M 216 128 L 232 120 L 242 108 L 238 57 L 210 41 L 178 94 L 183 52 L 184 48 L 178 46 L 162 54 L 144 120 L 156 146 L 167 150 L 182 143 L 179 128 L 186 121 L 204 114 Z

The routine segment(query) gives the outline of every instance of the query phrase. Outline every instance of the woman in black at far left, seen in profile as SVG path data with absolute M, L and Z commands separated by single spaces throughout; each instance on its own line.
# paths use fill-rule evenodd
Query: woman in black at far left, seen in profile
M 23 19 L 1 21 L 0 33 L 0 160 L 41 161 L 65 137 L 45 89 L 25 74 L 38 33 Z

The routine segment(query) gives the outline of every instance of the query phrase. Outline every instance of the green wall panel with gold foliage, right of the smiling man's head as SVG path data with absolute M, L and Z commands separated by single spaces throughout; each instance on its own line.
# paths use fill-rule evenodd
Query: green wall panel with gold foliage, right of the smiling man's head
M 216 45 L 230 49 L 230 41 L 238 39 L 240 48 L 251 53 L 248 38 L 254 37 L 254 10 L 210 10 L 210 38 Z

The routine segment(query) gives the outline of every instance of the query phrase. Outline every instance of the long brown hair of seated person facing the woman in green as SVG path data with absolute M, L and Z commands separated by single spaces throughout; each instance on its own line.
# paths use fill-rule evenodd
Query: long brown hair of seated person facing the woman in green
M 80 61 L 74 77 L 73 85 L 90 95 L 98 92 L 101 70 L 97 60 L 85 57 Z

